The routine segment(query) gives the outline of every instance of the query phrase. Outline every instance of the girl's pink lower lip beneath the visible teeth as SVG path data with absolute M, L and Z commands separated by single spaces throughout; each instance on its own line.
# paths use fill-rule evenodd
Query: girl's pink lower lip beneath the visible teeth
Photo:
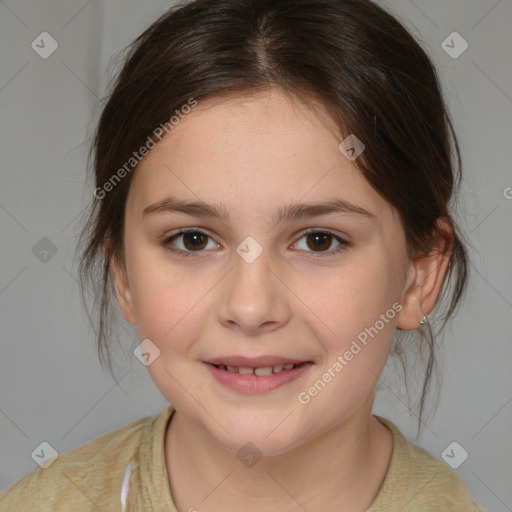
M 292 370 L 282 370 L 279 373 L 264 375 L 258 377 L 256 375 L 241 375 L 239 373 L 221 370 L 209 363 L 204 363 L 210 370 L 213 377 L 228 388 L 240 393 L 254 394 L 266 393 L 273 391 L 289 382 L 292 382 L 306 373 L 313 363 L 304 363 L 303 365 L 293 368 Z

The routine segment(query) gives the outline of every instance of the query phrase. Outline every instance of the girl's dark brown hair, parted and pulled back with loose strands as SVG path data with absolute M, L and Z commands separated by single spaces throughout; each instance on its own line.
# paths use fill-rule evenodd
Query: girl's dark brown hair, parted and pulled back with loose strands
M 190 98 L 280 87 L 310 104 L 318 100 L 343 136 L 356 134 L 365 144 L 355 163 L 399 212 L 411 258 L 428 253 L 435 233 L 449 241 L 450 264 L 436 306 L 439 313 L 444 307 L 444 327 L 468 272 L 467 251 L 449 211 L 461 158 L 436 71 L 392 15 L 368 0 L 195 0 L 162 15 L 124 57 L 91 147 L 97 187 L 148 137 L 158 142 L 154 130 Z M 79 245 L 83 296 L 92 286 L 96 300 L 89 313 L 99 316 L 100 361 L 111 372 L 105 240 L 112 254 L 122 254 L 133 172 L 93 200 Z M 454 228 L 453 236 L 440 229 L 441 218 Z M 399 356 L 402 338 L 395 340 Z M 419 421 L 435 366 L 432 332 L 427 339 Z

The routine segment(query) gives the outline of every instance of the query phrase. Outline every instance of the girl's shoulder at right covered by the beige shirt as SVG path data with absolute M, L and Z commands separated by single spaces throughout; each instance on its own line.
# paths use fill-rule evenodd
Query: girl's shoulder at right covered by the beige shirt
M 393 453 L 384 483 L 368 512 L 400 507 L 418 512 L 482 512 L 451 468 L 409 442 L 392 422 L 378 419 L 393 433 Z

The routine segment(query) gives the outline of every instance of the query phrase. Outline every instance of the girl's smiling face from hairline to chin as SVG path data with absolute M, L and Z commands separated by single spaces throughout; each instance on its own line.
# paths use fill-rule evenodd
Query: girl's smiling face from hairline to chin
M 410 284 L 397 212 L 316 112 L 278 90 L 199 102 L 128 195 L 123 314 L 162 394 L 230 450 L 369 415 Z

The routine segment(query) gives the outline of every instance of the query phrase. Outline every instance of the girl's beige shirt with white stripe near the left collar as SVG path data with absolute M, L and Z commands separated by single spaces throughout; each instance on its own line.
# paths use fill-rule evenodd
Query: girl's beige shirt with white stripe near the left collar
M 38 467 L 0 494 L 0 512 L 121 512 L 121 487 L 128 481 L 130 462 L 126 512 L 178 512 L 164 455 L 172 413 L 168 406 L 156 417 L 59 454 L 47 469 Z M 393 452 L 384 483 L 367 512 L 482 512 L 448 466 L 408 442 L 393 423 L 378 419 L 393 432 Z

